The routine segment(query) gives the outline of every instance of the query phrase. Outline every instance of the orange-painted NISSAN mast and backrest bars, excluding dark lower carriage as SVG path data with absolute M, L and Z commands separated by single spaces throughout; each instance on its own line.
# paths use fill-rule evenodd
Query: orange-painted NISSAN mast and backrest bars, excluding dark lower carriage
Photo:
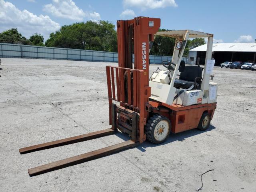
M 129 29 L 131 30 L 131 28 L 133 29 L 132 38 L 134 39 L 134 69 L 132 69 L 129 58 L 131 54 L 131 50 L 129 49 L 129 40 L 131 40 L 131 37 L 129 36 Z M 112 101 L 115 100 L 120 102 L 120 106 L 140 114 L 138 126 L 140 142 L 144 142 L 146 140 L 144 125 L 146 125 L 146 121 L 148 119 L 148 111 L 145 106 L 151 95 L 151 88 L 148 86 L 150 42 L 154 41 L 154 34 L 159 28 L 159 18 L 136 17 L 132 20 L 118 20 L 118 68 L 110 66 L 106 67 L 110 124 L 112 123 Z M 118 78 L 116 80 L 117 100 L 115 98 L 115 90 L 113 88 L 113 86 L 115 86 L 113 78 L 114 68 L 116 68 L 116 72 L 118 71 Z M 128 103 L 125 103 L 125 82 L 123 78 L 125 72 L 127 72 Z M 132 78 L 130 72 L 133 72 Z M 131 85 L 133 85 L 132 90 Z

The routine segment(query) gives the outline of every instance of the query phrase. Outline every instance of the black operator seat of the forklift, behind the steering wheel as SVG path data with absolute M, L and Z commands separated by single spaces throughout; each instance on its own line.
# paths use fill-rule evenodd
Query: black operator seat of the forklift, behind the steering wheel
M 182 65 L 184 66 L 184 64 Z M 182 69 L 183 70 L 180 73 L 180 78 L 174 81 L 174 87 L 188 89 L 190 86 L 195 84 L 194 89 L 198 88 L 202 80 L 202 68 L 195 65 L 189 65 L 183 67 Z

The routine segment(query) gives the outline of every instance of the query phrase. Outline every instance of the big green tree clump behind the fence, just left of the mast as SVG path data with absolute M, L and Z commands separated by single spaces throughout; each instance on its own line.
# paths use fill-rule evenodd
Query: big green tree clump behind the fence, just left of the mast
M 115 26 L 108 21 L 87 21 L 64 25 L 50 34 L 48 47 L 117 52 Z

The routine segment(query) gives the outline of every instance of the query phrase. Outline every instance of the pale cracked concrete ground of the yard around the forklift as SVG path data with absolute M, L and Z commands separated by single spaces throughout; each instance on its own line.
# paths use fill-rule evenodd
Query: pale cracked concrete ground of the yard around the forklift
M 218 103 L 207 131 L 171 134 L 104 158 L 29 177 L 27 169 L 128 136 L 20 155 L 18 149 L 109 128 L 105 66 L 116 63 L 1 58 L 0 191 L 256 191 L 256 72 L 214 68 Z M 152 73 L 158 65 L 150 65 Z M 161 68 L 161 66 L 160 66 Z M 211 162 L 212 161 L 212 162 Z M 216 181 L 215 181 L 216 180 Z

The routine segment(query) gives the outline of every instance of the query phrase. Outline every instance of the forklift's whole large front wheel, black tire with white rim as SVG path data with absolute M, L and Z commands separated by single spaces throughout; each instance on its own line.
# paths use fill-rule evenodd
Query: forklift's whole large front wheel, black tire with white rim
M 155 114 L 147 122 L 145 132 L 146 138 L 155 144 L 166 141 L 171 131 L 171 123 L 165 116 Z

